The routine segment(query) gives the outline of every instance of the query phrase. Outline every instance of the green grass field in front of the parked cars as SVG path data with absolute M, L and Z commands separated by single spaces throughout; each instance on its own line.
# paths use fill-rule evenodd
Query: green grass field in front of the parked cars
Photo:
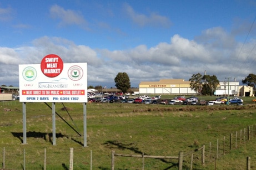
M 163 97 L 163 96 L 162 96 Z M 206 97 L 205 99 L 210 99 Z M 0 102 L 0 150 L 5 150 L 6 169 L 43 169 L 46 149 L 47 169 L 68 169 L 69 150 L 74 148 L 73 169 L 111 169 L 111 152 L 154 156 L 178 156 L 205 145 L 205 166 L 200 153 L 193 156 L 193 169 L 246 169 L 246 158 L 255 168 L 256 137 L 243 140 L 229 151 L 229 135 L 255 125 L 256 110 L 251 97 L 244 106 L 170 106 L 143 104 L 87 104 L 87 147 L 63 120 L 56 116 L 56 146 L 52 145 L 52 111 L 44 103 L 27 103 L 27 144 L 22 145 L 22 103 Z M 51 104 L 50 104 L 51 105 Z M 56 104 L 56 111 L 83 134 L 83 105 Z M 4 108 L 12 111 L 4 111 Z M 74 125 L 74 124 L 76 125 Z M 223 137 L 225 155 L 222 155 Z M 214 157 L 219 140 L 219 158 Z M 209 158 L 209 142 L 212 158 Z M 25 151 L 25 154 L 24 154 Z M 3 153 L 3 152 L 0 152 Z M 24 164 L 24 155 L 26 164 Z M 183 169 L 190 169 L 191 157 L 184 158 Z M 0 156 L 3 162 L 3 156 Z M 2 164 L 3 165 L 3 164 Z M 2 167 L 0 167 L 1 169 Z M 177 169 L 175 159 L 145 159 L 144 169 Z M 115 169 L 142 169 L 142 158 L 116 157 Z

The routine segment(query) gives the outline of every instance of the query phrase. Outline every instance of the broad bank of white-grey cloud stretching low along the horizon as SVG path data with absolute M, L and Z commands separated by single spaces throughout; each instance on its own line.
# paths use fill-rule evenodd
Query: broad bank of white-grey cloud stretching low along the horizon
M 228 40 L 233 42 L 218 45 L 228 43 Z M 18 64 L 39 64 L 48 54 L 61 56 L 64 63 L 87 62 L 88 85 L 94 86 L 114 87 L 114 78 L 119 72 L 129 75 L 133 87 L 138 87 L 140 81 L 188 80 L 193 74 L 203 74 L 204 70 L 208 75 L 216 75 L 220 81 L 225 77 L 242 80 L 249 73 L 254 73 L 255 43 L 256 40 L 251 40 L 243 47 L 221 28 L 205 30 L 195 40 L 173 35 L 170 42 L 159 43 L 155 47 L 148 48 L 142 44 L 129 50 L 113 51 L 92 49 L 59 37 L 41 37 L 35 39 L 31 47 L 1 47 L 0 80 L 9 83 L 16 80 L 17 83 Z

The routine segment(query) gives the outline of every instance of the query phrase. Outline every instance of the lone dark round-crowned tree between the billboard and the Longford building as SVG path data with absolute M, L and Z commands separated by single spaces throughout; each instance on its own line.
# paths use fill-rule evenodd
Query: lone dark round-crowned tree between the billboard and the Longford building
M 130 88 L 130 79 L 127 73 L 118 73 L 114 82 L 116 83 L 117 89 L 123 93 L 126 93 Z

